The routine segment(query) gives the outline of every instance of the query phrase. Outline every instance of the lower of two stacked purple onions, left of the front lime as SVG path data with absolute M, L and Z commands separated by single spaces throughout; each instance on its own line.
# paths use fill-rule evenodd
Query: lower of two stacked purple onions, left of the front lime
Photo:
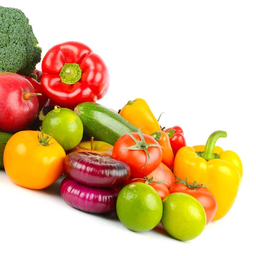
M 91 213 L 116 211 L 117 188 L 97 188 L 81 184 L 70 177 L 61 182 L 61 197 L 73 208 Z

